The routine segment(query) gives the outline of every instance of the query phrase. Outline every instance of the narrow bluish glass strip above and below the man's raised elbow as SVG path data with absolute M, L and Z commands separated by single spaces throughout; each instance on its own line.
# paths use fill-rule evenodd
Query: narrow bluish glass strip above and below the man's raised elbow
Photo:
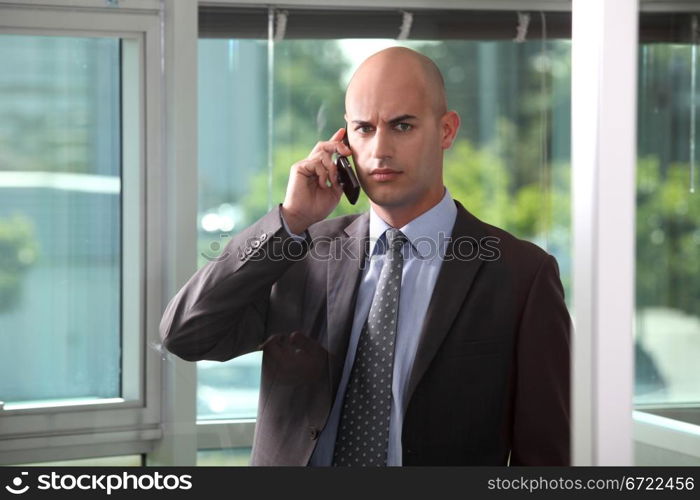
M 267 171 L 267 41 L 199 41 L 198 265 L 215 260 L 228 238 L 256 218 L 251 185 Z M 267 210 L 264 195 L 263 213 Z M 200 361 L 200 419 L 252 418 L 258 407 L 260 353 L 225 363 Z

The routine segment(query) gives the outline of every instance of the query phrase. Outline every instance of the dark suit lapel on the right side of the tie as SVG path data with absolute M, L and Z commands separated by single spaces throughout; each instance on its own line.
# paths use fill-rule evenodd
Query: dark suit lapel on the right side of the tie
M 455 204 L 457 217 L 421 328 L 418 350 L 408 381 L 406 405 L 462 308 L 482 264 L 477 256 L 469 260 L 463 256 L 470 252 L 470 243 L 467 242 L 476 244 L 481 237 L 486 236 L 486 232 L 482 224 L 458 201 L 455 200 Z M 478 248 L 476 251 L 478 253 Z

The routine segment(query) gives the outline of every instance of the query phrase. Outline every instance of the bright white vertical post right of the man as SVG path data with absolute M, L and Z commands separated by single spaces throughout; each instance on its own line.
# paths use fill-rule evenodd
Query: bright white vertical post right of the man
M 574 0 L 574 465 L 632 465 L 637 0 Z

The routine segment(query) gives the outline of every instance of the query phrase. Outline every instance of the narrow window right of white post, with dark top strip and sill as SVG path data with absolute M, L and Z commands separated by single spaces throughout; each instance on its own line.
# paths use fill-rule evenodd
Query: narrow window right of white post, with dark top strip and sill
M 638 59 L 635 462 L 698 465 L 698 16 L 655 19 Z

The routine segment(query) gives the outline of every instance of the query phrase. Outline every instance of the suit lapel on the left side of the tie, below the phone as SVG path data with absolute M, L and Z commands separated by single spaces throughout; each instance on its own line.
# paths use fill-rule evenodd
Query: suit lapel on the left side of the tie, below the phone
M 369 242 L 369 214 L 357 217 L 345 228 L 347 238 L 333 238 L 328 258 L 328 366 L 331 401 L 340 383 L 352 330 L 361 265 Z

